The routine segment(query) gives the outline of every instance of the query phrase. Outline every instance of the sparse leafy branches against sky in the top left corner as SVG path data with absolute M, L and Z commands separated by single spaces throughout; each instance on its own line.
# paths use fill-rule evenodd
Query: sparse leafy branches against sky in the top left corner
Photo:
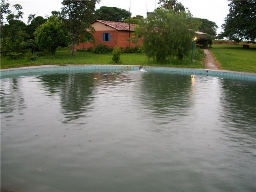
M 10 4 L 5 2 L 5 0 L 1 0 L 1 5 L 0 5 L 0 24 L 1 26 L 5 23 L 7 23 L 9 20 L 13 19 L 19 19 L 22 18 L 23 12 L 22 6 L 20 4 L 15 4 L 13 7 L 15 10 L 11 12 L 9 10 Z M 6 22 L 4 22 L 4 14 L 7 14 L 6 16 Z

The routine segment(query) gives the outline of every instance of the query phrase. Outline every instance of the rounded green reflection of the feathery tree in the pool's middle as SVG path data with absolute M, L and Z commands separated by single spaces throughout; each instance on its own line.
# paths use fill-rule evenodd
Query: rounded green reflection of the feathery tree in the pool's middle
M 142 102 L 155 113 L 171 115 L 173 111 L 184 111 L 191 106 L 189 76 L 146 73 L 142 76 L 141 83 Z

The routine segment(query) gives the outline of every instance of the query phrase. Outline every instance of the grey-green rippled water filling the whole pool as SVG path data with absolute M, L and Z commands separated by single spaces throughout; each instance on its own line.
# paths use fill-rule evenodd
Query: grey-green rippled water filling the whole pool
M 256 191 L 256 82 L 38 74 L 0 94 L 1 189 Z

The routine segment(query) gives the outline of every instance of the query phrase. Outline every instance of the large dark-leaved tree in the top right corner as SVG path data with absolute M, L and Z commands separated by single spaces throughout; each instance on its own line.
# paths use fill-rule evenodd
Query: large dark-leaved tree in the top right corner
M 229 14 L 222 25 L 224 32 L 218 38 L 256 42 L 256 1 L 230 1 Z

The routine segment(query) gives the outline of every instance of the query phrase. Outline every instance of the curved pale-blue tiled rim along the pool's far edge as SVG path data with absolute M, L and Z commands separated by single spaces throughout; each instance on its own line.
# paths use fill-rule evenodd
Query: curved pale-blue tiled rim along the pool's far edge
M 57 73 L 68 71 L 121 71 L 121 70 L 139 70 L 143 68 L 146 71 L 163 71 L 173 74 L 187 74 L 187 75 L 203 75 L 216 76 L 220 78 L 232 78 L 238 80 L 252 80 L 256 81 L 255 73 L 234 72 L 226 70 L 211 70 L 211 69 L 194 69 L 194 68 L 173 68 L 173 67 L 158 67 L 158 66 L 133 66 L 133 65 L 44 65 L 32 66 L 22 68 L 10 68 L 0 70 L 1 78 L 8 78 L 13 76 L 32 75 L 40 72 Z

